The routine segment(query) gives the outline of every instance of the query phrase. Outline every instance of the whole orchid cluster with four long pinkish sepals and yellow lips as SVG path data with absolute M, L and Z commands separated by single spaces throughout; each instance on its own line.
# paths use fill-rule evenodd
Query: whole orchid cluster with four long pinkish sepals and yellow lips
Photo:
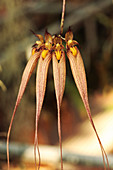
M 65 1 L 63 2 L 64 2 L 63 4 L 65 4 Z M 62 16 L 64 17 L 64 15 Z M 64 20 L 62 19 L 62 23 L 63 21 Z M 62 33 L 62 30 L 63 30 L 63 26 L 61 24 L 61 33 Z M 89 120 L 91 122 L 91 125 L 95 131 L 98 142 L 100 144 L 103 162 L 104 162 L 104 169 L 106 169 L 105 159 L 107 161 L 107 167 L 109 169 L 109 162 L 108 162 L 106 152 L 104 150 L 104 147 L 101 143 L 101 140 L 98 136 L 97 130 L 92 120 L 91 111 L 90 111 L 89 102 L 88 102 L 87 82 L 86 82 L 84 64 L 83 64 L 80 51 L 77 47 L 78 42 L 73 40 L 73 33 L 71 29 L 69 28 L 69 30 L 66 32 L 65 38 L 63 38 L 61 34 L 52 36 L 47 31 L 45 31 L 45 39 L 43 38 L 42 35 L 35 34 L 34 32 L 33 34 L 38 38 L 38 41 L 36 41 L 36 43 L 32 46 L 31 57 L 22 75 L 22 80 L 21 80 L 16 104 L 14 107 L 13 115 L 11 118 L 9 130 L 7 134 L 8 170 L 9 170 L 9 136 L 11 132 L 13 119 L 14 119 L 17 107 L 24 94 L 27 83 L 36 65 L 38 65 L 38 67 L 37 67 L 37 73 L 36 73 L 36 127 L 35 127 L 35 139 L 34 139 L 34 156 L 35 156 L 35 167 L 37 169 L 36 151 L 38 151 L 38 156 L 39 156 L 38 169 L 40 168 L 40 152 L 39 152 L 39 146 L 38 146 L 38 122 L 39 122 L 40 113 L 41 113 L 44 95 L 45 95 L 45 90 L 46 90 L 48 67 L 49 67 L 51 60 L 53 64 L 53 77 L 54 77 L 57 110 L 58 110 L 58 135 L 59 135 L 59 143 L 60 143 L 60 151 L 61 151 L 60 152 L 61 153 L 61 170 L 63 170 L 60 107 L 62 103 L 62 98 L 64 94 L 64 89 L 65 89 L 65 80 L 66 80 L 65 52 L 67 53 L 67 57 L 70 62 L 75 84 L 78 88 L 81 99 L 84 103 L 86 112 L 88 114 Z M 66 49 L 64 48 L 62 41 L 66 43 Z

